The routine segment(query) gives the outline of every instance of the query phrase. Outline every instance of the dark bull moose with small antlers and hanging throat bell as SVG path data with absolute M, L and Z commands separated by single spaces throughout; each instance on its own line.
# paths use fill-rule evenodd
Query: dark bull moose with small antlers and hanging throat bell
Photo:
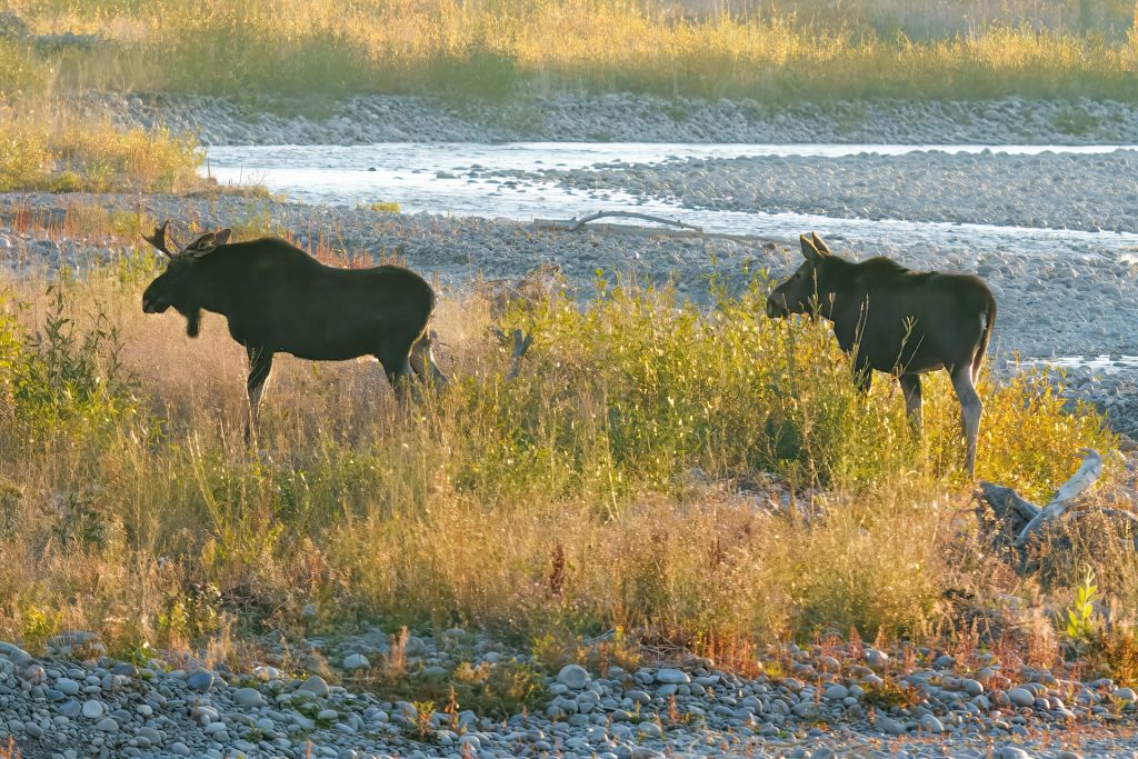
M 249 355 L 247 437 L 256 430 L 277 353 L 313 361 L 376 356 L 397 389 L 412 369 L 424 381 L 445 382 L 427 335 L 435 291 L 414 272 L 333 269 L 275 238 L 229 244 L 228 229 L 171 251 L 168 224 L 143 236 L 170 265 L 142 294 L 142 311 L 160 314 L 173 306 L 185 316 L 190 337 L 198 335 L 203 310 L 229 320 L 229 333 Z

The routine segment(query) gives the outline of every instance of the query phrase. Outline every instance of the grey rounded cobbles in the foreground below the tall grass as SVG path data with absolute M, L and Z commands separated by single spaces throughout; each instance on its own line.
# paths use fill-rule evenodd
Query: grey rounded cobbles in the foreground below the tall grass
M 116 660 L 81 630 L 49 638 L 40 657 L 0 643 L 0 735 L 26 759 L 1073 759 L 1136 745 L 1130 688 L 992 653 L 834 638 L 770 646 L 749 676 L 691 655 L 545 674 L 533 655 L 461 628 L 259 643 L 264 661 L 239 671 L 189 654 Z M 437 691 L 463 668 L 523 673 L 533 708 L 476 713 L 387 693 L 399 683 Z

